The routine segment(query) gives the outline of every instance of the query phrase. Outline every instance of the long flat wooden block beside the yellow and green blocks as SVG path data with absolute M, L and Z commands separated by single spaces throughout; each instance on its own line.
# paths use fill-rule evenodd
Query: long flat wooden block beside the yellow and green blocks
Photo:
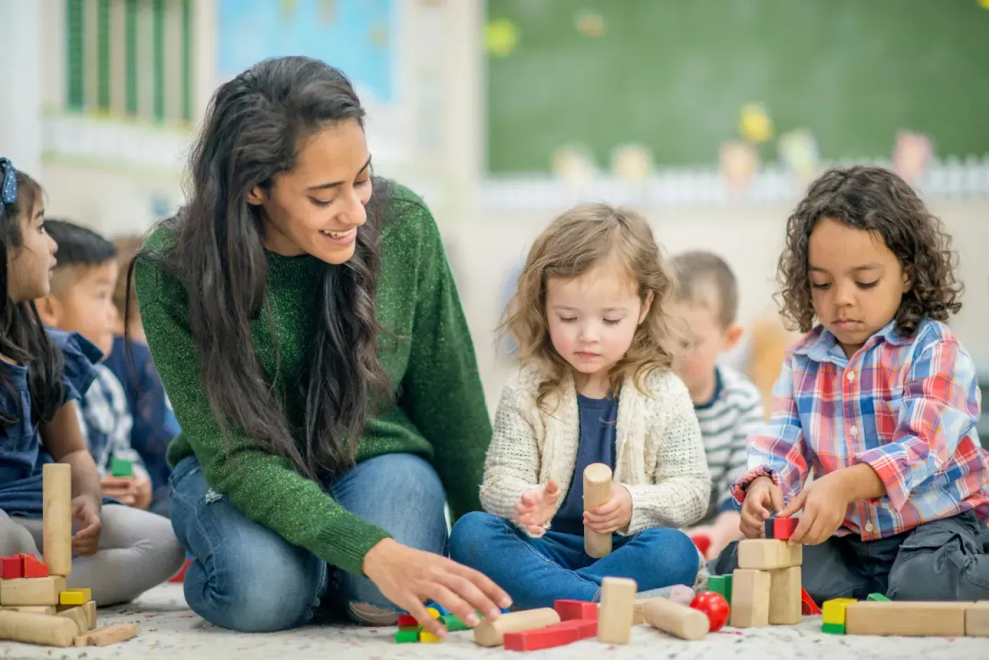
M 845 608 L 845 633 L 906 637 L 961 637 L 971 603 L 860 601 Z

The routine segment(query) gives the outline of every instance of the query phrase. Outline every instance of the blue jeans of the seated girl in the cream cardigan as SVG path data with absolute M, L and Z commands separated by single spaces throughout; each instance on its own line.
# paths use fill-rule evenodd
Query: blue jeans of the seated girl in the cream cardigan
M 450 557 L 490 577 L 523 609 L 551 608 L 557 599 L 596 602 L 605 577 L 632 578 L 640 592 L 690 586 L 700 567 L 696 546 L 679 530 L 614 536 L 611 552 L 593 559 L 584 552 L 584 536 L 550 530 L 532 538 L 503 518 L 477 512 L 453 526 Z

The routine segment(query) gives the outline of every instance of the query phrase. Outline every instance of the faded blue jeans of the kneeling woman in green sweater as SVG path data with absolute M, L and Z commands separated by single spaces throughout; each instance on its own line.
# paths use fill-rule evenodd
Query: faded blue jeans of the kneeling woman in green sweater
M 284 630 L 312 619 L 324 597 L 358 622 L 379 622 L 364 618 L 367 606 L 397 610 L 367 578 L 328 570 L 306 548 L 240 513 L 206 483 L 195 455 L 179 461 L 171 484 L 172 528 L 195 557 L 185 576 L 186 602 L 203 619 L 245 632 Z M 369 458 L 326 489 L 343 508 L 400 543 L 444 551 L 443 486 L 423 458 Z

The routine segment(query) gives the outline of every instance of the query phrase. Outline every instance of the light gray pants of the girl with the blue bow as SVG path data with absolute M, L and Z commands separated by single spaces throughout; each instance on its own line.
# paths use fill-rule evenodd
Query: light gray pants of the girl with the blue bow
M 91 557 L 73 556 L 69 588 L 89 587 L 100 607 L 133 601 L 178 571 L 185 550 L 167 518 L 108 504 L 100 513 L 100 549 Z M 0 556 L 42 553 L 42 519 L 11 518 L 0 511 Z

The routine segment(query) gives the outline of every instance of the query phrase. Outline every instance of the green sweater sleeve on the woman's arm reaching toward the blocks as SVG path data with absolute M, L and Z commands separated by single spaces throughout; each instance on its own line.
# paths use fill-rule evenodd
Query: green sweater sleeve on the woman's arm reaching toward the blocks
M 363 575 L 364 555 L 388 533 L 346 511 L 236 425 L 228 425 L 224 438 L 200 376 L 183 289 L 158 267 L 139 261 L 136 291 L 154 364 L 206 482 L 250 520 L 329 564 Z

